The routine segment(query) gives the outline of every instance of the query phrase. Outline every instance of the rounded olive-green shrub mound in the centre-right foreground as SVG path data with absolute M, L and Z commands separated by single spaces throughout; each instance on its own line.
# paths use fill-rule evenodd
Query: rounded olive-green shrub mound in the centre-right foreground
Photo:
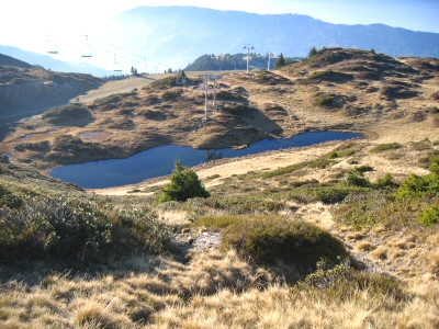
M 336 263 L 347 252 L 329 232 L 302 220 L 275 216 L 209 216 L 195 225 L 222 228 L 222 246 L 234 248 L 243 258 L 258 263 L 293 264 L 302 274 L 311 273 L 324 258 Z

